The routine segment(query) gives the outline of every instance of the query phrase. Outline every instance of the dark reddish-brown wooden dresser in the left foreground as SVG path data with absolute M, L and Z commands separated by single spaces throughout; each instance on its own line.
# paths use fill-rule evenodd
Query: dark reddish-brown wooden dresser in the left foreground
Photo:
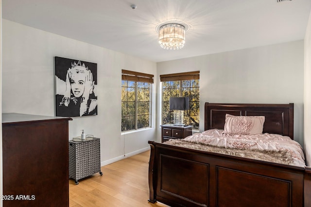
M 68 121 L 2 114 L 3 207 L 68 207 Z

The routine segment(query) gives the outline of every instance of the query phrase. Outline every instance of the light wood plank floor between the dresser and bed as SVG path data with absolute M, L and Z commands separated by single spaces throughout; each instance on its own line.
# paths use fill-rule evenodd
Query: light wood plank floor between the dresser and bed
M 102 167 L 75 185 L 69 179 L 69 207 L 167 207 L 148 202 L 150 151 Z

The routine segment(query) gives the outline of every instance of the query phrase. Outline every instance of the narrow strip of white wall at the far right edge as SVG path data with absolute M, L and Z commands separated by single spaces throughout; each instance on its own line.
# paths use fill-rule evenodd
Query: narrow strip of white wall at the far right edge
M 305 35 L 304 70 L 304 148 L 307 165 L 311 166 L 311 13 Z

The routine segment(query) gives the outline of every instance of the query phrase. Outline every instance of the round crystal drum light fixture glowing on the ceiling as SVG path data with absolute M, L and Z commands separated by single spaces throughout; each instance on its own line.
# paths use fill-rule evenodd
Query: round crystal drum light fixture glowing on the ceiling
M 180 49 L 185 44 L 185 27 L 181 24 L 164 24 L 159 29 L 159 44 L 164 49 Z

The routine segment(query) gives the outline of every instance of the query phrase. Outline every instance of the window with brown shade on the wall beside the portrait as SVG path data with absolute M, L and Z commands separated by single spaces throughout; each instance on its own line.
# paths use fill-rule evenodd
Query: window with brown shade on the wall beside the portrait
M 151 126 L 153 75 L 122 70 L 121 131 Z

